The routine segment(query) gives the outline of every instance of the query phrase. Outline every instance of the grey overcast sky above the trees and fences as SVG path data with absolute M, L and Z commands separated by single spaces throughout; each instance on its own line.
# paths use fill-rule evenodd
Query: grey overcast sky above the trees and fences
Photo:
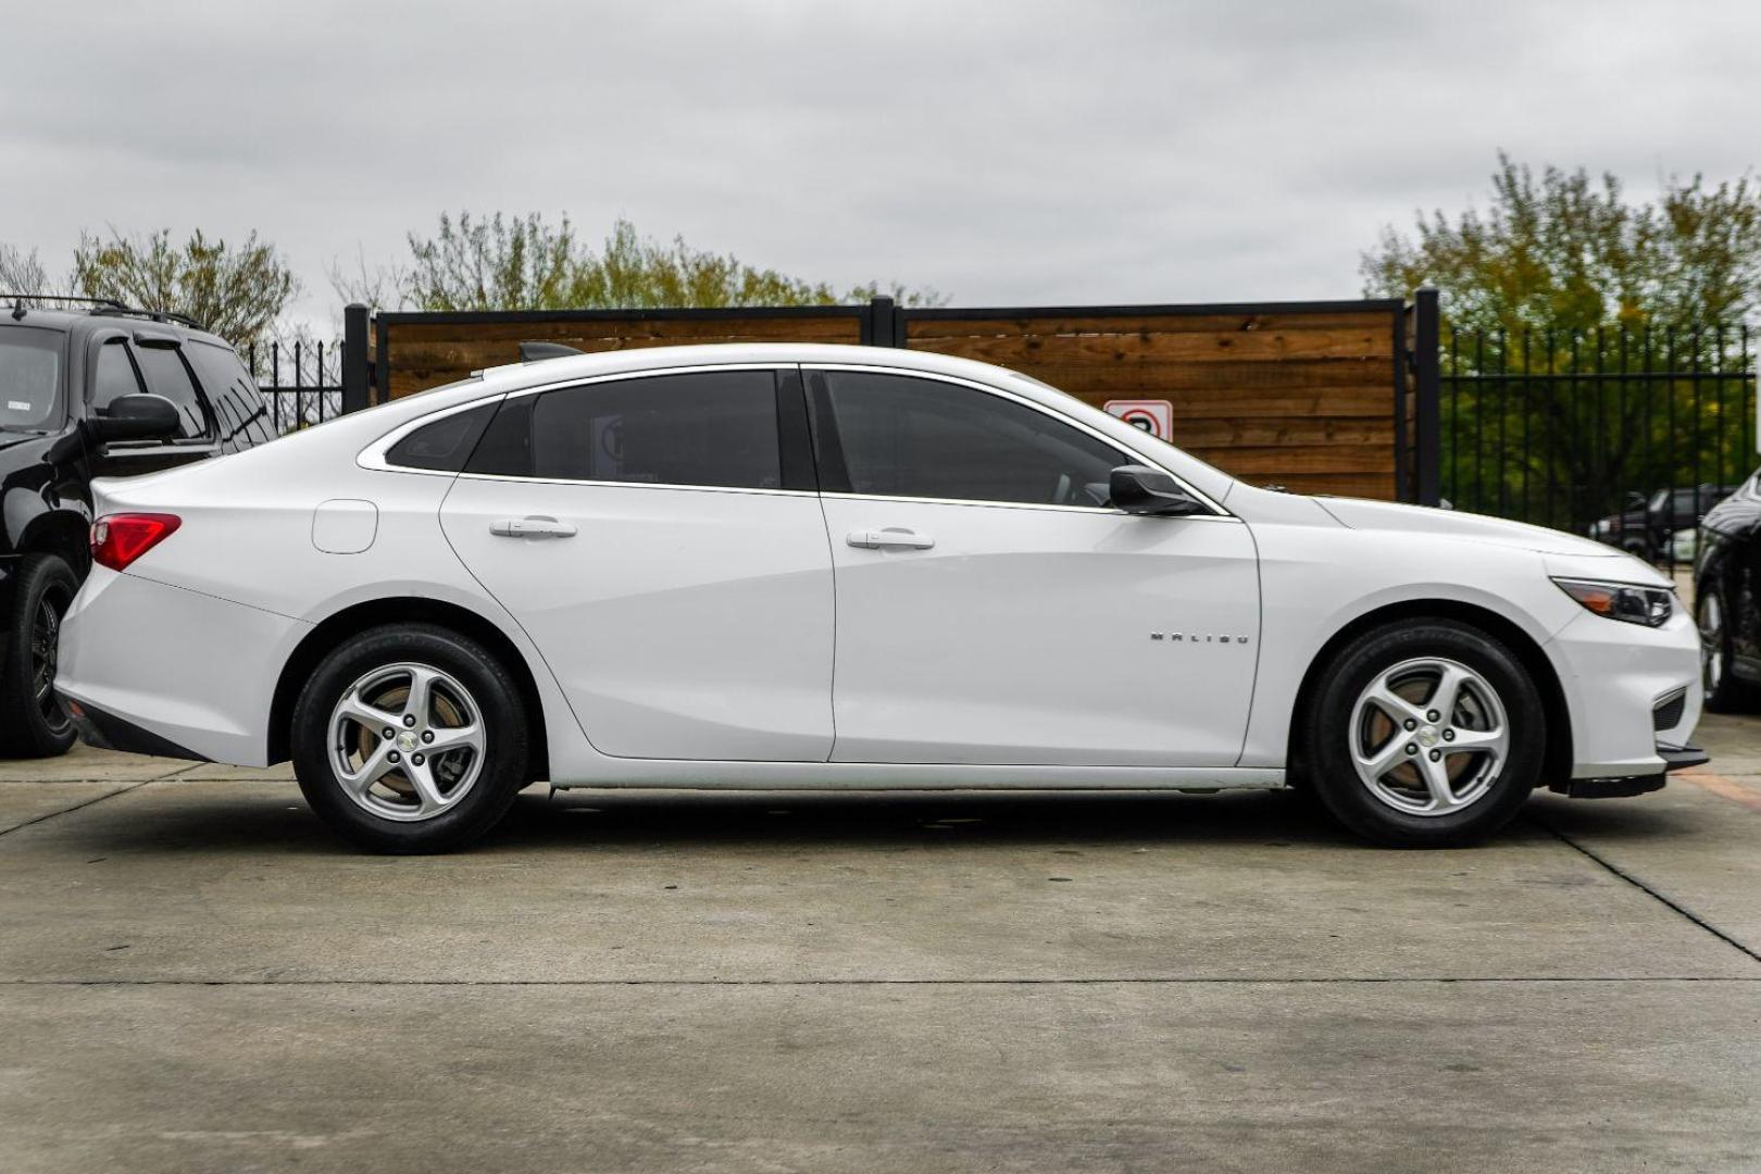
M 326 273 L 442 209 L 954 305 L 1352 297 L 1502 146 L 1761 162 L 1761 4 L 7 4 L 0 241 L 257 229 Z

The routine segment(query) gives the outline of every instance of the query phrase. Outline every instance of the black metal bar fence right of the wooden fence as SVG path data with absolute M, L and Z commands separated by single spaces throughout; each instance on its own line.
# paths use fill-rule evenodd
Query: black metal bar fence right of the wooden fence
M 1442 331 L 1446 502 L 1588 533 L 1657 561 L 1750 475 L 1747 326 Z

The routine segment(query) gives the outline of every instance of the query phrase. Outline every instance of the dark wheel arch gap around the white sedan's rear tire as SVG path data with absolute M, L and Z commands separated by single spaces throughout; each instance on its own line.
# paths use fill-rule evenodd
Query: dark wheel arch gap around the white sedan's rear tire
M 287 657 L 287 664 L 282 665 L 282 674 L 275 683 L 275 695 L 269 702 L 268 760 L 271 764 L 289 759 L 289 725 L 292 723 L 294 704 L 299 701 L 299 690 L 310 679 L 319 662 L 349 637 L 387 623 L 433 623 L 451 628 L 460 635 L 468 635 L 488 648 L 519 686 L 519 701 L 527 709 L 528 739 L 532 745 L 532 776 L 535 780 L 549 776 L 549 737 L 544 723 L 544 699 L 539 695 L 537 678 L 534 678 L 532 665 L 527 664 L 525 655 L 493 621 L 460 604 L 426 597 L 389 597 L 350 604 L 319 621 L 294 646 L 294 651 Z

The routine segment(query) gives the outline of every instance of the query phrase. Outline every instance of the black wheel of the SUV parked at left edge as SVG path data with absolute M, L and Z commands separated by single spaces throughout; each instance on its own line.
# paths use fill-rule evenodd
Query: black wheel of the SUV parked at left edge
M 55 695 L 55 657 L 79 577 L 55 554 L 25 554 L 12 581 L 5 664 L 0 664 L 0 750 L 14 759 L 67 753 L 74 723 Z

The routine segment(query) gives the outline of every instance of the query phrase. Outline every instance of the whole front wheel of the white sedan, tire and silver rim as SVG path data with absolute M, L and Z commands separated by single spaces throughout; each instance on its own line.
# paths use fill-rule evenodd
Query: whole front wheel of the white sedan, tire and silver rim
M 1426 669 L 1404 667 L 1426 660 L 1439 665 L 1437 681 L 1428 683 Z M 1446 664 L 1467 669 L 1476 683 L 1462 686 L 1463 701 L 1453 713 L 1428 718 L 1437 713 L 1428 708 L 1435 692 L 1425 690 L 1439 688 L 1440 665 Z M 1391 672 L 1411 676 L 1391 678 Z M 1359 704 L 1379 678 L 1384 685 L 1389 679 L 1405 681 L 1400 688 L 1419 699 L 1414 716 L 1407 718 L 1419 722 L 1411 734 L 1404 732 L 1405 727 L 1396 729 L 1379 706 Z M 1483 690 L 1493 697 L 1488 701 Z M 1405 693 L 1400 697 L 1405 699 Z M 1419 620 L 1367 632 L 1333 657 L 1305 702 L 1308 785 L 1333 818 L 1374 843 L 1395 848 L 1472 843 L 1507 824 L 1541 776 L 1546 748 L 1541 693 L 1509 648 L 1465 623 Z M 1488 716 L 1499 709 L 1502 722 Z M 1379 739 L 1379 722 L 1386 722 L 1393 736 Z M 1463 750 L 1469 737 L 1497 729 L 1504 732 L 1504 750 L 1495 767 L 1488 752 Z M 1382 774 L 1365 767 L 1377 778 L 1374 789 L 1354 762 L 1354 741 L 1367 748 L 1365 757 L 1398 755 Z M 1418 753 L 1407 757 L 1407 746 Z M 1430 766 L 1423 759 L 1439 762 L 1444 773 L 1458 773 L 1456 780 L 1439 783 L 1448 799 L 1439 799 L 1439 792 L 1426 787 Z M 1409 810 L 1456 801 L 1462 806 L 1455 810 Z

